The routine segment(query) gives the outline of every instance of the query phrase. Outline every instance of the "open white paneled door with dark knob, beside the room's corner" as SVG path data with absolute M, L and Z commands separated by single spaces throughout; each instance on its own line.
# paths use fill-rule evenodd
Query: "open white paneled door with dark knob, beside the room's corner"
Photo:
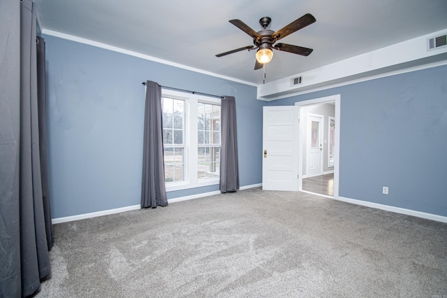
M 263 110 L 263 190 L 298 190 L 298 106 Z

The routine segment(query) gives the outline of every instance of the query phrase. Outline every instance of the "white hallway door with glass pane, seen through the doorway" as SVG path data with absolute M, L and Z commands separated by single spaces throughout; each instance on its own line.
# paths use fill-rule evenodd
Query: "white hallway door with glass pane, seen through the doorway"
M 323 175 L 323 116 L 307 116 L 307 177 Z

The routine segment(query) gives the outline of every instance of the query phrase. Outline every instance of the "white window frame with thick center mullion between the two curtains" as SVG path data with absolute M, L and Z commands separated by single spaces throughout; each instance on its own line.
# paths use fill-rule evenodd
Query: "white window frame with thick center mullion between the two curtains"
M 186 190 L 189 188 L 203 187 L 208 185 L 218 185 L 220 177 L 198 179 L 198 138 L 197 138 L 197 104 L 221 105 L 221 99 L 206 97 L 200 94 L 191 94 L 175 90 L 162 89 L 161 97 L 184 100 L 184 180 L 165 183 L 166 192 L 175 190 Z

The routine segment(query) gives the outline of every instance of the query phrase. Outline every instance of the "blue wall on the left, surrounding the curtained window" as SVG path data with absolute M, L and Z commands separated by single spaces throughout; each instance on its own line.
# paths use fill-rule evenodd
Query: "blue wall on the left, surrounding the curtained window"
M 236 98 L 240 185 L 262 180 L 256 87 L 43 35 L 52 217 L 140 204 L 143 81 Z M 168 193 L 168 199 L 219 185 Z

